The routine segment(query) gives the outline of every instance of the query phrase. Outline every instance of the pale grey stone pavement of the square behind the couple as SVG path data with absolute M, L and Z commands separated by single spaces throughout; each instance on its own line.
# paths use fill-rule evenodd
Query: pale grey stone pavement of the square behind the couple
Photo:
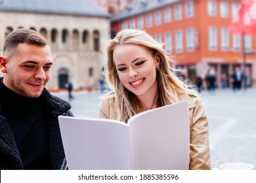
M 67 92 L 53 93 L 68 101 Z M 212 168 L 222 163 L 243 162 L 256 167 L 256 88 L 201 93 L 209 121 Z M 75 92 L 70 101 L 79 117 L 98 118 L 99 92 Z

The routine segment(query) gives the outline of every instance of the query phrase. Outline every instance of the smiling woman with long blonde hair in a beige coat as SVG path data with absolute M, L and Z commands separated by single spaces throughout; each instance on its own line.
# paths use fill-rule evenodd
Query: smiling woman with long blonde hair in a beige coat
M 106 49 L 106 81 L 112 92 L 102 96 L 100 118 L 127 122 L 144 110 L 188 101 L 189 169 L 211 169 L 208 122 L 198 94 L 171 67 L 162 45 L 145 31 L 125 29 Z

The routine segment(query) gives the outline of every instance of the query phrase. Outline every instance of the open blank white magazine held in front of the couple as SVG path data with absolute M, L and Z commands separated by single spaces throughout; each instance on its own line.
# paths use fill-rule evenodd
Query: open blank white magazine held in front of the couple
M 117 120 L 59 116 L 68 169 L 188 169 L 188 103 Z

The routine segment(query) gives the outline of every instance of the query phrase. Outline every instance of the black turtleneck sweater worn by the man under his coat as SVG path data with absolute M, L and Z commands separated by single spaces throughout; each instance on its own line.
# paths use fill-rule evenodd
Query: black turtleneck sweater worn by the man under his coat
M 3 116 L 14 135 L 24 169 L 51 167 L 48 127 L 38 98 L 27 98 L 0 84 Z

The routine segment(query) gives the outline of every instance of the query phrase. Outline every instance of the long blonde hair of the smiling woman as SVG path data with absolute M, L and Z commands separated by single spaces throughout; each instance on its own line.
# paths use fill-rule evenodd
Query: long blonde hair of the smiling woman
M 141 112 L 141 105 L 136 95 L 127 90 L 117 75 L 116 65 L 113 59 L 113 52 L 119 44 L 138 44 L 148 48 L 152 52 L 152 56 L 158 54 L 160 58 L 159 69 L 156 69 L 156 80 L 158 82 L 158 107 L 177 103 L 179 101 L 178 95 L 185 94 L 196 95 L 196 92 L 190 86 L 184 84 L 173 73 L 175 69 L 171 66 L 174 65 L 171 59 L 165 53 L 163 45 L 155 41 L 146 31 L 137 29 L 124 29 L 117 33 L 116 37 L 108 42 L 106 48 L 106 82 L 112 89 L 102 99 L 113 99 L 116 103 L 116 120 L 127 122 L 131 116 Z

